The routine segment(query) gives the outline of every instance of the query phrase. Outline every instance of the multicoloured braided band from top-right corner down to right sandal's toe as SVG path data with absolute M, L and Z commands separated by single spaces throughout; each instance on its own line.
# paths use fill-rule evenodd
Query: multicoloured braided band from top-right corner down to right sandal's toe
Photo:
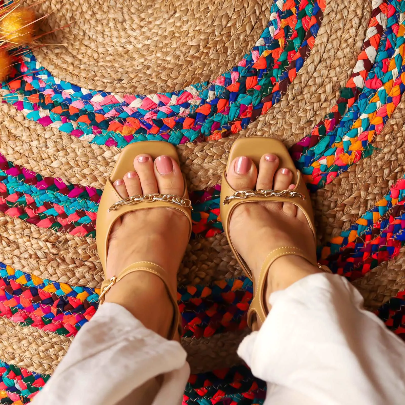
M 364 84 L 360 79 L 357 79 L 356 83 L 354 78 L 353 82 L 348 82 L 352 87 L 356 84 L 356 92 L 361 91 L 357 100 L 353 100 L 339 124 L 332 119 L 327 122 L 327 129 L 325 123 L 321 123 L 313 130 L 315 139 L 311 141 L 307 138 L 301 142 L 300 146 L 305 148 L 301 152 L 298 167 L 303 171 L 306 182 L 314 185 L 310 189 L 315 190 L 325 183 L 330 183 L 350 165 L 369 156 L 374 135 L 381 132 L 401 100 L 401 94 L 405 90 L 405 23 L 399 13 L 405 11 L 405 4 L 394 0 L 382 9 L 387 9 L 386 13 L 379 14 L 382 27 L 385 25 L 385 16 L 388 19 L 384 36 L 379 41 L 375 63 L 365 77 Z M 374 53 L 373 48 L 366 48 L 371 55 Z M 366 72 L 364 69 L 364 73 Z M 352 96 L 347 89 L 343 90 L 343 95 L 345 98 L 347 95 L 354 98 L 354 93 Z M 343 112 L 345 102 L 342 103 Z M 328 117 L 331 118 L 333 116 Z M 311 142 L 316 143 L 311 145 Z

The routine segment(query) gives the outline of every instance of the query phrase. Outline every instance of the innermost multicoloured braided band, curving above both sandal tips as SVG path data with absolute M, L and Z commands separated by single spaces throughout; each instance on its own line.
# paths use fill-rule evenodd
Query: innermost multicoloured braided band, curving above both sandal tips
M 82 140 L 124 147 L 155 139 L 174 145 L 219 139 L 245 128 L 280 100 L 313 47 L 324 0 L 278 2 L 256 46 L 213 83 L 179 92 L 118 96 L 53 77 L 27 51 L 2 87 L 28 119 Z

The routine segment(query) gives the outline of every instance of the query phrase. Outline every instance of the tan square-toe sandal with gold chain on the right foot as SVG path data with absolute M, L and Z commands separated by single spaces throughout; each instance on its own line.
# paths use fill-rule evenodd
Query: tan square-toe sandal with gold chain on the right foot
M 236 191 L 234 190 L 226 180 L 226 172 L 228 171 L 231 162 L 239 156 L 247 156 L 252 159 L 256 167 L 259 167 L 260 158 L 266 154 L 272 153 L 279 158 L 279 167 L 285 167 L 290 169 L 293 173 L 293 178 L 291 183 L 296 184 L 293 190 L 245 190 Z M 243 260 L 241 255 L 234 248 L 232 239 L 229 235 L 229 224 L 230 218 L 232 217 L 232 212 L 239 204 L 252 203 L 252 202 L 263 202 L 263 201 L 273 201 L 273 202 L 288 202 L 296 205 L 298 209 L 301 209 L 308 220 L 309 226 L 312 230 L 313 237 L 315 237 L 315 226 L 313 223 L 313 213 L 311 200 L 309 198 L 308 190 L 303 182 L 301 172 L 296 169 L 294 162 L 287 148 L 284 144 L 277 139 L 272 138 L 262 138 L 262 137 L 249 137 L 240 138 L 235 141 L 230 149 L 228 163 L 226 166 L 226 171 L 222 175 L 221 184 L 221 197 L 220 197 L 220 214 L 222 226 L 228 239 L 228 243 L 232 252 L 237 259 L 239 265 L 241 266 L 244 273 L 253 280 L 252 271 L 250 271 L 246 262 Z M 257 330 L 261 324 L 264 322 L 267 316 L 266 306 L 264 305 L 264 288 L 266 285 L 267 274 L 269 272 L 271 264 L 279 257 L 286 255 L 301 256 L 308 260 L 310 263 L 318 266 L 323 271 L 330 272 L 326 266 L 320 266 L 317 262 L 315 252 L 304 252 L 302 249 L 298 249 L 294 246 L 285 246 L 274 249 L 272 252 L 266 256 L 266 259 L 262 263 L 260 276 L 257 285 L 253 285 L 253 299 L 247 313 L 247 324 L 253 330 Z

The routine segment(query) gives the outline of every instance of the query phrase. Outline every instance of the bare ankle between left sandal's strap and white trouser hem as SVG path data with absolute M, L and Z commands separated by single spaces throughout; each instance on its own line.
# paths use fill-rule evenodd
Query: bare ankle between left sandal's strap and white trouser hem
M 174 308 L 166 286 L 156 275 L 143 271 L 128 274 L 111 288 L 105 301 L 121 305 L 146 328 L 167 337 Z

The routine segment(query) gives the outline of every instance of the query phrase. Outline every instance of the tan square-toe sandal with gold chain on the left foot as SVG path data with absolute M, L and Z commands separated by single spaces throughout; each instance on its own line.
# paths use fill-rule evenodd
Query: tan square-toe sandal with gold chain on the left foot
M 111 228 L 114 222 L 130 211 L 137 211 L 140 209 L 151 209 L 151 208 L 162 208 L 170 207 L 178 209 L 183 212 L 184 215 L 190 221 L 190 232 L 191 235 L 191 202 L 188 199 L 187 185 L 184 182 L 184 194 L 182 197 L 173 196 L 168 194 L 149 194 L 146 196 L 132 196 L 126 199 L 122 199 L 121 196 L 115 191 L 113 183 L 117 179 L 122 179 L 127 172 L 134 170 L 134 158 L 141 154 L 147 153 L 151 157 L 156 159 L 158 156 L 166 155 L 173 158 L 177 163 L 179 163 L 179 158 L 177 157 L 176 149 L 173 145 L 162 141 L 145 141 L 132 143 L 126 146 L 122 152 L 119 154 L 119 158 L 115 167 L 111 173 L 110 178 L 104 187 L 102 197 L 100 200 L 100 205 L 98 207 L 98 215 L 96 222 L 96 242 L 98 254 L 100 256 L 100 261 L 102 268 L 104 270 L 104 277 L 107 277 L 106 273 L 106 263 L 107 263 L 107 249 L 108 240 Z M 181 336 L 181 315 L 179 307 L 177 305 L 177 285 L 168 280 L 166 271 L 162 269 L 158 264 L 151 262 L 137 262 L 126 267 L 121 273 L 111 277 L 110 279 L 105 279 L 101 284 L 100 293 L 100 303 L 104 302 L 105 295 L 109 289 L 118 281 L 122 280 L 126 275 L 133 273 L 135 271 L 147 271 L 156 274 L 164 282 L 168 295 L 172 301 L 174 307 L 174 317 L 173 324 L 170 329 L 168 339 L 173 339 L 176 331 L 179 330 Z

